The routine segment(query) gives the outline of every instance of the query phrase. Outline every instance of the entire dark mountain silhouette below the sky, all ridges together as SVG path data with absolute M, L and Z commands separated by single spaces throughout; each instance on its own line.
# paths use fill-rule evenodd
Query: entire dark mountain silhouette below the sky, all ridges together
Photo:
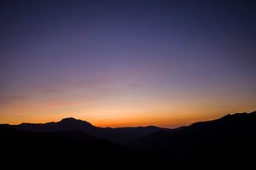
M 103 128 L 73 118 L 5 124 L 0 139 L 7 169 L 253 169 L 256 111 L 176 129 Z

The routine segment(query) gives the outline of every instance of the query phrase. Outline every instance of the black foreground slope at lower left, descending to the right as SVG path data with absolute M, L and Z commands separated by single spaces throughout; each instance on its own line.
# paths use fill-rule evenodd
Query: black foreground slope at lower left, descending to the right
M 1 125 L 0 139 L 6 169 L 165 169 L 168 162 L 80 131 L 37 133 Z

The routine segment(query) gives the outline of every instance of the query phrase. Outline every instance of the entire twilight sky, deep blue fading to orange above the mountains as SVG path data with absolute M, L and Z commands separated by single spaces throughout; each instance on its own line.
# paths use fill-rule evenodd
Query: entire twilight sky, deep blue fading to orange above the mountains
M 256 110 L 255 1 L 0 3 L 0 123 L 178 127 Z

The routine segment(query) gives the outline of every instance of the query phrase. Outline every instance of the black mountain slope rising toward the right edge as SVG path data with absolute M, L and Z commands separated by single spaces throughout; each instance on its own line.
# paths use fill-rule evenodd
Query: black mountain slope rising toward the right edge
M 173 133 L 152 133 L 130 146 L 183 158 L 195 167 L 203 164 L 248 167 L 256 158 L 256 112 L 196 122 Z

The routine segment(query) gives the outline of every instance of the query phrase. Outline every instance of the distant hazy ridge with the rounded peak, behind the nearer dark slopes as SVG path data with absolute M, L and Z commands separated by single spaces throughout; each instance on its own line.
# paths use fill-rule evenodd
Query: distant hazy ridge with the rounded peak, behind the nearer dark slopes
M 77 120 L 74 118 L 65 118 L 60 122 L 48 122 L 44 124 L 21 123 L 20 125 L 9 125 L 20 130 L 32 132 L 58 132 L 67 130 L 80 130 L 96 138 L 108 139 L 117 144 L 127 144 L 132 140 L 148 135 L 149 133 L 160 130 L 171 131 L 171 129 L 161 127 L 95 127 L 89 122 Z

